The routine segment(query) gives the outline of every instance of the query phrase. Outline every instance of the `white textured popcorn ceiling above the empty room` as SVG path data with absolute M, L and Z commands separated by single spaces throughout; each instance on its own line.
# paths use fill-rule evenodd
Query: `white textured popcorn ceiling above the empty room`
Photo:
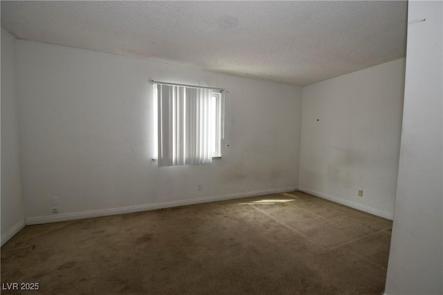
M 406 12 L 406 1 L 1 1 L 1 26 L 19 39 L 304 86 L 404 57 Z

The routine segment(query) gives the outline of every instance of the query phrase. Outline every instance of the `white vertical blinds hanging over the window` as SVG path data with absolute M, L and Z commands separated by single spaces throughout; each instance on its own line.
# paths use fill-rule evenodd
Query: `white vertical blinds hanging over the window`
M 210 89 L 157 84 L 159 166 L 213 161 Z

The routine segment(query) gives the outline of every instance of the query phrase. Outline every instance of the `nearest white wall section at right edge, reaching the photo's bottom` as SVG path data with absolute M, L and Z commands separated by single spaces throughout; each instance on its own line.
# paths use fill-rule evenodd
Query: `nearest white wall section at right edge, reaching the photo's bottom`
M 409 2 L 389 295 L 443 294 L 442 19 L 442 1 Z

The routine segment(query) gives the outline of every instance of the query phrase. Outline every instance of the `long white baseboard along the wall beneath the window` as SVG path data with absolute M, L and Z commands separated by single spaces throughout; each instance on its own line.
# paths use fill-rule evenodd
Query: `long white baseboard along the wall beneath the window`
M 269 195 L 271 193 L 284 193 L 287 191 L 296 191 L 296 190 L 298 190 L 297 187 L 289 187 L 289 188 L 284 188 L 284 189 L 266 189 L 263 191 L 233 193 L 230 195 L 214 196 L 214 197 L 208 197 L 208 198 L 198 198 L 198 199 L 172 201 L 172 202 L 161 202 L 161 203 L 155 203 L 155 204 L 144 204 L 144 205 L 138 205 L 138 206 L 130 206 L 130 207 L 122 207 L 122 208 L 114 208 L 114 209 L 103 209 L 103 210 L 95 210 L 95 211 L 84 211 L 84 212 L 77 212 L 77 213 L 57 214 L 55 216 L 38 216 L 38 217 L 25 218 L 25 223 L 26 223 L 26 225 L 39 225 L 42 223 L 49 223 L 49 222 L 60 222 L 60 221 L 66 221 L 66 220 L 93 218 L 93 217 L 99 217 L 99 216 L 118 215 L 118 214 L 132 213 L 132 212 L 138 212 L 138 211 L 149 211 L 149 210 L 163 209 L 163 208 L 169 208 L 169 207 L 178 207 L 178 206 L 184 206 L 184 205 L 190 205 L 190 204 L 200 204 L 200 203 L 206 203 L 206 202 L 216 202 L 216 201 L 221 201 L 221 200 L 233 200 L 233 199 L 238 199 L 238 198 L 263 196 L 263 195 Z M 3 237 L 1 238 L 1 240 L 3 241 Z

